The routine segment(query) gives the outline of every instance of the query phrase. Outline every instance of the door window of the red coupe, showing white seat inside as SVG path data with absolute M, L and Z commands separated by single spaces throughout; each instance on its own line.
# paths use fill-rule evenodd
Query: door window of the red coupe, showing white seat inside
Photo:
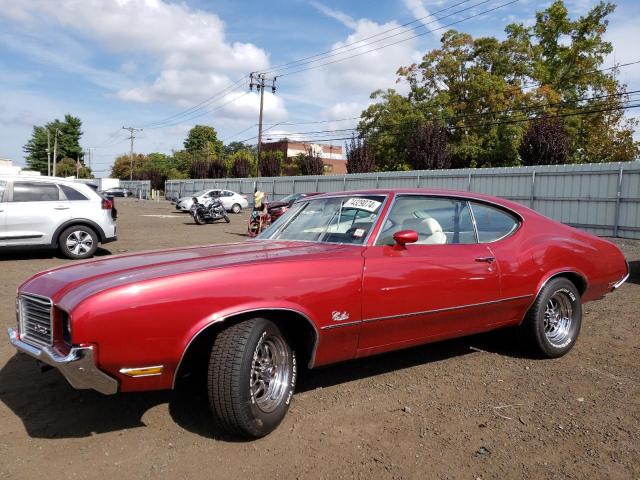
M 465 200 L 421 195 L 399 196 L 382 227 L 376 245 L 392 245 L 401 230 L 418 233 L 417 244 L 476 243 L 469 207 Z

